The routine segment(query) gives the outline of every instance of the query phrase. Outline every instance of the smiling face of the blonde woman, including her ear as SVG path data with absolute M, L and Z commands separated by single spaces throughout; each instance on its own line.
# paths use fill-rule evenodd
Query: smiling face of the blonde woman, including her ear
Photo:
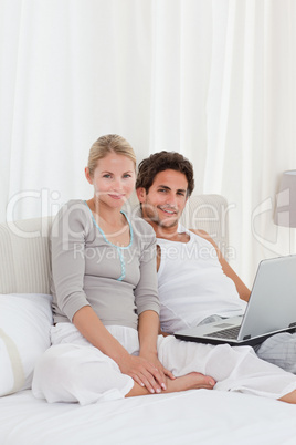
M 94 185 L 95 197 L 113 208 L 121 207 L 135 188 L 135 165 L 124 155 L 109 153 L 97 162 L 92 177 L 87 167 L 85 174 Z

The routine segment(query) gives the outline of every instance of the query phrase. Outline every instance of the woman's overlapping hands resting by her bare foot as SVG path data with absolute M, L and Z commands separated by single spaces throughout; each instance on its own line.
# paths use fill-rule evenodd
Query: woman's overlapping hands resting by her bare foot
M 129 375 L 140 386 L 154 393 L 166 390 L 166 375 L 175 379 L 171 372 L 166 370 L 155 354 L 147 356 L 125 355 L 118 363 L 120 371 Z

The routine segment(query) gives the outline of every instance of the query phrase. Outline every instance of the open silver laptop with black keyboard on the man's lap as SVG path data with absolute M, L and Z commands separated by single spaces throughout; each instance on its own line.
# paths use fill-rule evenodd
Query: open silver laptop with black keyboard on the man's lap
M 199 343 L 256 345 L 278 332 L 296 331 L 296 255 L 262 260 L 244 315 L 175 332 Z

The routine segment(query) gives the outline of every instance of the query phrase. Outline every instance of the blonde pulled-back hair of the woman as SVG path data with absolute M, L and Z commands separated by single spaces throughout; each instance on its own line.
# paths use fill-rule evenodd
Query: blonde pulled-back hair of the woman
M 109 153 L 116 153 L 117 155 L 123 155 L 129 157 L 136 168 L 136 155 L 130 144 L 121 136 L 117 134 L 107 134 L 106 136 L 101 136 L 89 149 L 87 167 L 89 168 L 89 175 L 93 176 L 94 170 L 97 166 L 97 162 L 103 159 Z

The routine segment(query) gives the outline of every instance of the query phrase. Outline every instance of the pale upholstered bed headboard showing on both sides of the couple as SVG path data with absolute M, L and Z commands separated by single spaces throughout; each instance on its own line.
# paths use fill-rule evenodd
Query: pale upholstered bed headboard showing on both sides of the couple
M 52 217 L 0 225 L 0 293 L 50 293 L 49 234 Z M 181 222 L 229 244 L 228 203 L 220 195 L 191 196 Z

